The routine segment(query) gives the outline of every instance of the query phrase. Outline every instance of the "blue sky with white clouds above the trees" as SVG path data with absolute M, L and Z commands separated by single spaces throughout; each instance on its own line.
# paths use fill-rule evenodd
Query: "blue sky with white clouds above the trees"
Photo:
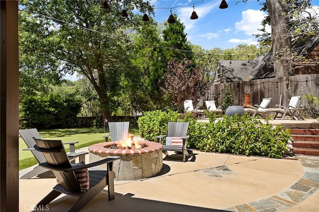
M 265 0 L 247 0 L 247 3 L 238 0 L 226 0 L 228 8 L 220 9 L 221 0 L 151 0 L 155 5 L 155 19 L 163 22 L 168 19 L 170 8 L 172 13 L 185 25 L 187 39 L 195 45 L 200 45 L 208 50 L 215 47 L 228 49 L 239 44 L 258 45 L 257 39 L 252 34 L 258 33 L 261 21 L 266 15 L 260 11 L 261 2 Z M 312 5 L 317 5 L 319 0 L 312 0 Z M 193 11 L 198 19 L 190 19 Z M 267 28 L 269 32 L 270 27 Z

